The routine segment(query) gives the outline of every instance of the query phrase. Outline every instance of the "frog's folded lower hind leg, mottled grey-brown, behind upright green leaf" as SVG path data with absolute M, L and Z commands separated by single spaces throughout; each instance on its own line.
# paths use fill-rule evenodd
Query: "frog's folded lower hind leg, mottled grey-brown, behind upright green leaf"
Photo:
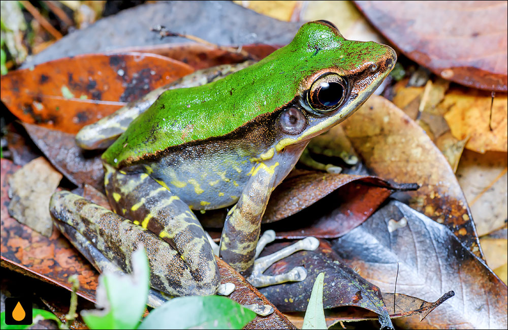
M 105 265 L 105 256 L 114 261 L 123 272 L 130 273 L 132 252 L 141 243 L 150 263 L 150 285 L 153 288 L 172 295 L 204 295 L 213 294 L 217 290 L 218 276 L 211 283 L 204 283 L 203 275 L 196 277 L 192 274 L 181 254 L 167 242 L 81 196 L 67 191 L 56 192 L 51 197 L 50 213 L 57 227 L 101 269 L 114 268 Z M 81 236 L 86 239 L 76 239 Z M 89 246 L 91 242 L 94 247 Z M 102 255 L 98 255 L 95 248 Z

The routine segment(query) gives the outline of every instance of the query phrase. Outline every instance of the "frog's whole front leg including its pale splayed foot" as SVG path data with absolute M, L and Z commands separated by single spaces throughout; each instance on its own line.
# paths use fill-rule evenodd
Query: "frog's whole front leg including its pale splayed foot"
M 248 280 L 255 286 L 304 280 L 307 273 L 303 267 L 295 267 L 289 273 L 277 276 L 264 276 L 263 272 L 272 263 L 296 251 L 315 250 L 319 246 L 317 239 L 308 237 L 308 239 L 304 239 L 291 247 L 256 260 L 255 265 L 255 258 L 263 247 L 275 238 L 273 233 L 272 237 L 261 239 L 260 243 L 261 241 L 264 242 L 258 246 L 261 219 L 268 204 L 270 194 L 275 187 L 275 168 L 278 165 L 278 162 L 273 161 L 271 164 L 260 163 L 253 168 L 252 175 L 240 199 L 231 208 L 226 217 L 220 239 L 220 257 L 243 276 L 248 277 Z M 270 236 L 270 234 L 267 236 Z M 254 272 L 252 273 L 253 268 Z

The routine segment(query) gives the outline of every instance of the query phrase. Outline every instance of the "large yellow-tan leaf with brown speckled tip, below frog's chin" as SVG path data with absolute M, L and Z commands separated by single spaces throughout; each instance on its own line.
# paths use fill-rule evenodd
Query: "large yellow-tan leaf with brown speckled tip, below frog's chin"
M 446 225 L 481 256 L 472 216 L 455 174 L 418 124 L 390 101 L 372 96 L 341 125 L 375 175 L 418 183 L 420 189 L 399 197 Z

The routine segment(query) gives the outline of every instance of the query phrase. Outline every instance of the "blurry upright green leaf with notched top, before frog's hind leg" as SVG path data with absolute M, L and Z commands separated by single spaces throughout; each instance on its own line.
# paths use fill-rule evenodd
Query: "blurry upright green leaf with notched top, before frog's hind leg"
M 146 307 L 149 266 L 144 248 L 132 254 L 132 275 L 105 273 L 99 278 L 97 305 L 103 310 L 82 311 L 90 329 L 134 329 Z

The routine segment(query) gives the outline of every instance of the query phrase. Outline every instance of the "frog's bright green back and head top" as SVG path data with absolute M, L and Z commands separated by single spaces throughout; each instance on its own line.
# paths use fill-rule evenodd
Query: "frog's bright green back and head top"
M 128 164 L 154 151 L 231 133 L 292 101 L 301 82 L 316 71 L 354 70 L 377 61 L 383 47 L 345 40 L 319 21 L 306 23 L 289 45 L 255 65 L 206 85 L 165 92 L 103 158 L 112 165 Z

